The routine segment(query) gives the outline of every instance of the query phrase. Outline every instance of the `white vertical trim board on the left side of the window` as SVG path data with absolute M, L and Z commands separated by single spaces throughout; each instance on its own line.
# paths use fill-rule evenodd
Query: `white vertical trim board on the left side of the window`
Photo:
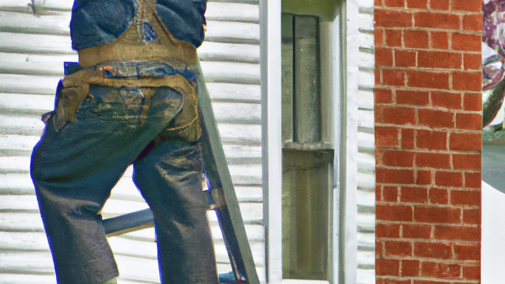
M 260 0 L 263 220 L 268 283 L 282 281 L 281 1 Z

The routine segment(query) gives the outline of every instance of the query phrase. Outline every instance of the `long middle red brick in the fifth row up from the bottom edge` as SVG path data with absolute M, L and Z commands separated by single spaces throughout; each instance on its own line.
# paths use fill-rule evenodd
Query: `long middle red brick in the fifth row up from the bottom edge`
M 450 207 L 415 206 L 414 221 L 424 223 L 453 223 L 461 221 L 461 210 Z

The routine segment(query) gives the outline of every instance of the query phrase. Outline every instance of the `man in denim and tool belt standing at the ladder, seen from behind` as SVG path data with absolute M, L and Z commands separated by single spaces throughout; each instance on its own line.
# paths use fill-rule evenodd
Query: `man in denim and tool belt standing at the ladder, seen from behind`
M 100 211 L 133 164 L 162 283 L 217 283 L 201 196 L 195 80 L 206 0 L 75 0 L 79 65 L 57 89 L 31 175 L 58 282 L 116 283 Z

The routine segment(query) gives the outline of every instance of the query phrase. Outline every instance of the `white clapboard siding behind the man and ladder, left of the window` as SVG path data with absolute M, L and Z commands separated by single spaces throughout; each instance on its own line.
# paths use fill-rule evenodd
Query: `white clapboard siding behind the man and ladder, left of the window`
M 71 47 L 71 0 L 0 0 L 0 284 L 55 283 L 51 254 L 30 179 L 42 113 L 54 108 Z M 264 282 L 259 6 L 257 0 L 209 1 L 206 41 L 198 49 L 258 274 Z M 104 217 L 146 208 L 128 169 Z M 209 221 L 219 271 L 231 270 L 214 212 Z M 120 284 L 159 283 L 153 228 L 110 238 Z

